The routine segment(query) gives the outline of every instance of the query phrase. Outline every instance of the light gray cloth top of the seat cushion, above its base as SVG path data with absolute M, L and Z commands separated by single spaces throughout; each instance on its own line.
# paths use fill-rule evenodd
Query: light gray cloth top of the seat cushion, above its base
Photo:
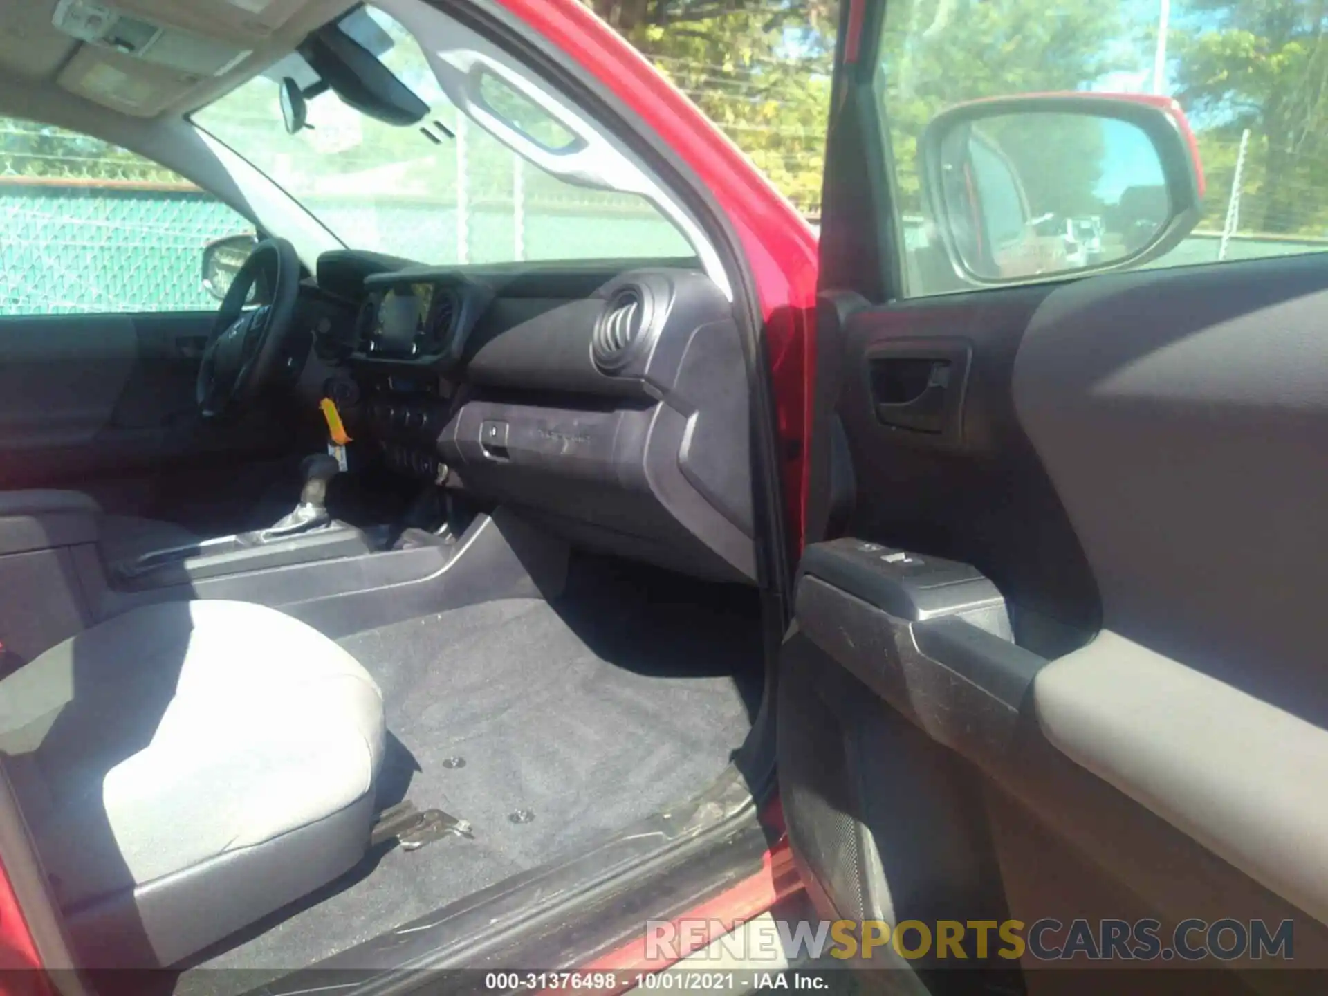
M 0 753 L 66 908 L 351 806 L 382 737 L 364 668 L 248 603 L 137 608 L 0 681 Z

